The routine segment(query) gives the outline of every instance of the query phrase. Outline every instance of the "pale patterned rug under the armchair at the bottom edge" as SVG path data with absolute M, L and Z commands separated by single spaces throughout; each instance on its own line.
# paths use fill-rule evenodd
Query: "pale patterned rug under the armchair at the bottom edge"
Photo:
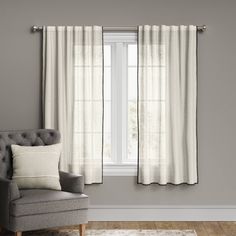
M 8 235 L 8 234 L 7 234 Z M 78 229 L 25 232 L 24 236 L 79 236 Z M 197 236 L 194 230 L 86 230 L 86 236 Z M 10 235 L 9 235 L 10 236 Z

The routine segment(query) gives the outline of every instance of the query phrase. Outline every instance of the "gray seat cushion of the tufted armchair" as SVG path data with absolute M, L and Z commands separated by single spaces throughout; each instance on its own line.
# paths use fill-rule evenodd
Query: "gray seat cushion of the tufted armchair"
M 88 209 L 88 196 L 56 190 L 21 190 L 21 198 L 11 202 L 12 216 L 47 214 Z

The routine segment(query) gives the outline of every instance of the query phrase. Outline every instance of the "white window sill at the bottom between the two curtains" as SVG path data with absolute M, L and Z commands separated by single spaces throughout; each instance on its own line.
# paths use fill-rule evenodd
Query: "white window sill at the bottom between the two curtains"
M 104 164 L 104 176 L 137 176 L 137 164 Z

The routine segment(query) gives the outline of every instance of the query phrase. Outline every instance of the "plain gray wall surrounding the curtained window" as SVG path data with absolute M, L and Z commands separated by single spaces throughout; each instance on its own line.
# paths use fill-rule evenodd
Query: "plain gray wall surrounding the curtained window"
M 0 129 L 41 127 L 40 34 L 31 25 L 206 24 L 199 35 L 196 186 L 106 177 L 91 204 L 236 204 L 235 0 L 0 0 Z

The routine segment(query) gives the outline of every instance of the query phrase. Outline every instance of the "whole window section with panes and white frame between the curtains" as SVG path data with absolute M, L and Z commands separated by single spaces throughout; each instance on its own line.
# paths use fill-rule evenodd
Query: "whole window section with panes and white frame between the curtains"
M 135 175 L 137 142 L 137 35 L 104 33 L 104 175 Z

